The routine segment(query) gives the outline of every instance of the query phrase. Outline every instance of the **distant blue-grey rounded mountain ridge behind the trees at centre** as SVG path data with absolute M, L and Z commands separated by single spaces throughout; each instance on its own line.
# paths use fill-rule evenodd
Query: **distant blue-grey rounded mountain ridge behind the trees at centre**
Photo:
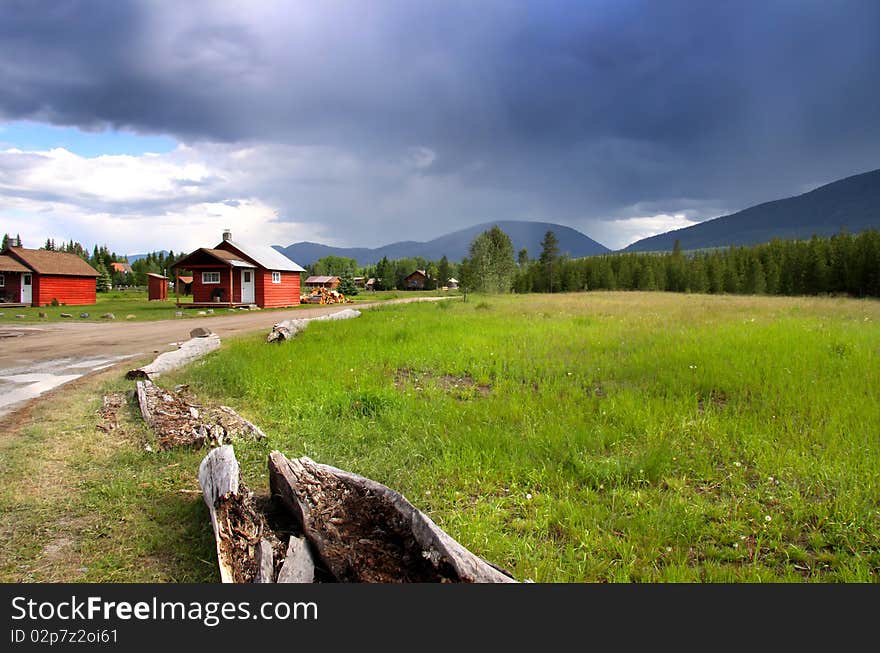
M 532 258 L 541 253 L 541 241 L 547 231 L 553 231 L 559 241 L 559 252 L 572 258 L 605 254 L 611 250 L 597 243 L 580 231 L 551 222 L 525 222 L 516 220 L 499 220 L 485 222 L 467 229 L 454 231 L 427 242 L 402 241 L 383 247 L 369 249 L 365 247 L 330 247 L 320 243 L 301 242 L 287 247 L 274 245 L 275 249 L 299 263 L 310 265 L 324 256 L 344 256 L 353 258 L 358 265 L 375 265 L 383 256 L 389 259 L 421 256 L 429 261 L 437 261 L 442 257 L 450 261 L 460 261 L 467 256 L 471 241 L 483 231 L 498 225 L 513 241 L 514 255 L 525 248 Z

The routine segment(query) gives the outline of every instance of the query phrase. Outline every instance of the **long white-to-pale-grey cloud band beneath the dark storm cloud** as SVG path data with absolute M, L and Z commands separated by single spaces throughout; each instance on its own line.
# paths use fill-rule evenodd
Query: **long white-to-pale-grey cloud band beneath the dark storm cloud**
M 523 194 L 432 174 L 437 159 L 423 146 L 383 159 L 258 143 L 96 157 L 0 150 L 0 233 L 20 233 L 27 246 L 51 237 L 133 254 L 213 245 L 227 227 L 264 244 L 376 246 L 499 216 L 529 218 Z

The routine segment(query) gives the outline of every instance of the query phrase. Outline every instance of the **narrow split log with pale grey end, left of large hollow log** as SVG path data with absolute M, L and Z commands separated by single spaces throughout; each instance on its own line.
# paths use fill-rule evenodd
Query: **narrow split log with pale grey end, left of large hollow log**
M 228 444 L 212 449 L 199 465 L 199 486 L 211 513 L 220 581 L 223 583 L 235 582 L 235 570 L 232 552 L 228 546 L 230 536 L 228 520 L 217 508 L 221 499 L 238 495 L 238 477 L 238 461 L 235 459 L 232 446 Z

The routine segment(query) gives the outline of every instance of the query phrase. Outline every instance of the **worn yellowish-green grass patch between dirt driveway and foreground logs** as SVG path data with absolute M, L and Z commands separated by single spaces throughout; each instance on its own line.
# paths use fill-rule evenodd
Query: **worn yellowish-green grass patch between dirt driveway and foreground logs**
M 198 491 L 203 452 L 150 453 L 135 404 L 97 428 L 102 396 L 130 391 L 117 368 L 7 417 L 0 434 L 0 581 L 213 581 Z

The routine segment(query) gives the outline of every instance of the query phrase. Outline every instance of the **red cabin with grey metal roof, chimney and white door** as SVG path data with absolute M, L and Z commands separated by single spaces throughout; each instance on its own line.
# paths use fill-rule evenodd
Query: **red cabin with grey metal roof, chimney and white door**
M 295 306 L 305 270 L 266 245 L 238 243 L 232 232 L 214 248 L 199 248 L 172 266 L 192 271 L 192 304 L 185 306 Z M 180 278 L 178 277 L 178 281 Z

